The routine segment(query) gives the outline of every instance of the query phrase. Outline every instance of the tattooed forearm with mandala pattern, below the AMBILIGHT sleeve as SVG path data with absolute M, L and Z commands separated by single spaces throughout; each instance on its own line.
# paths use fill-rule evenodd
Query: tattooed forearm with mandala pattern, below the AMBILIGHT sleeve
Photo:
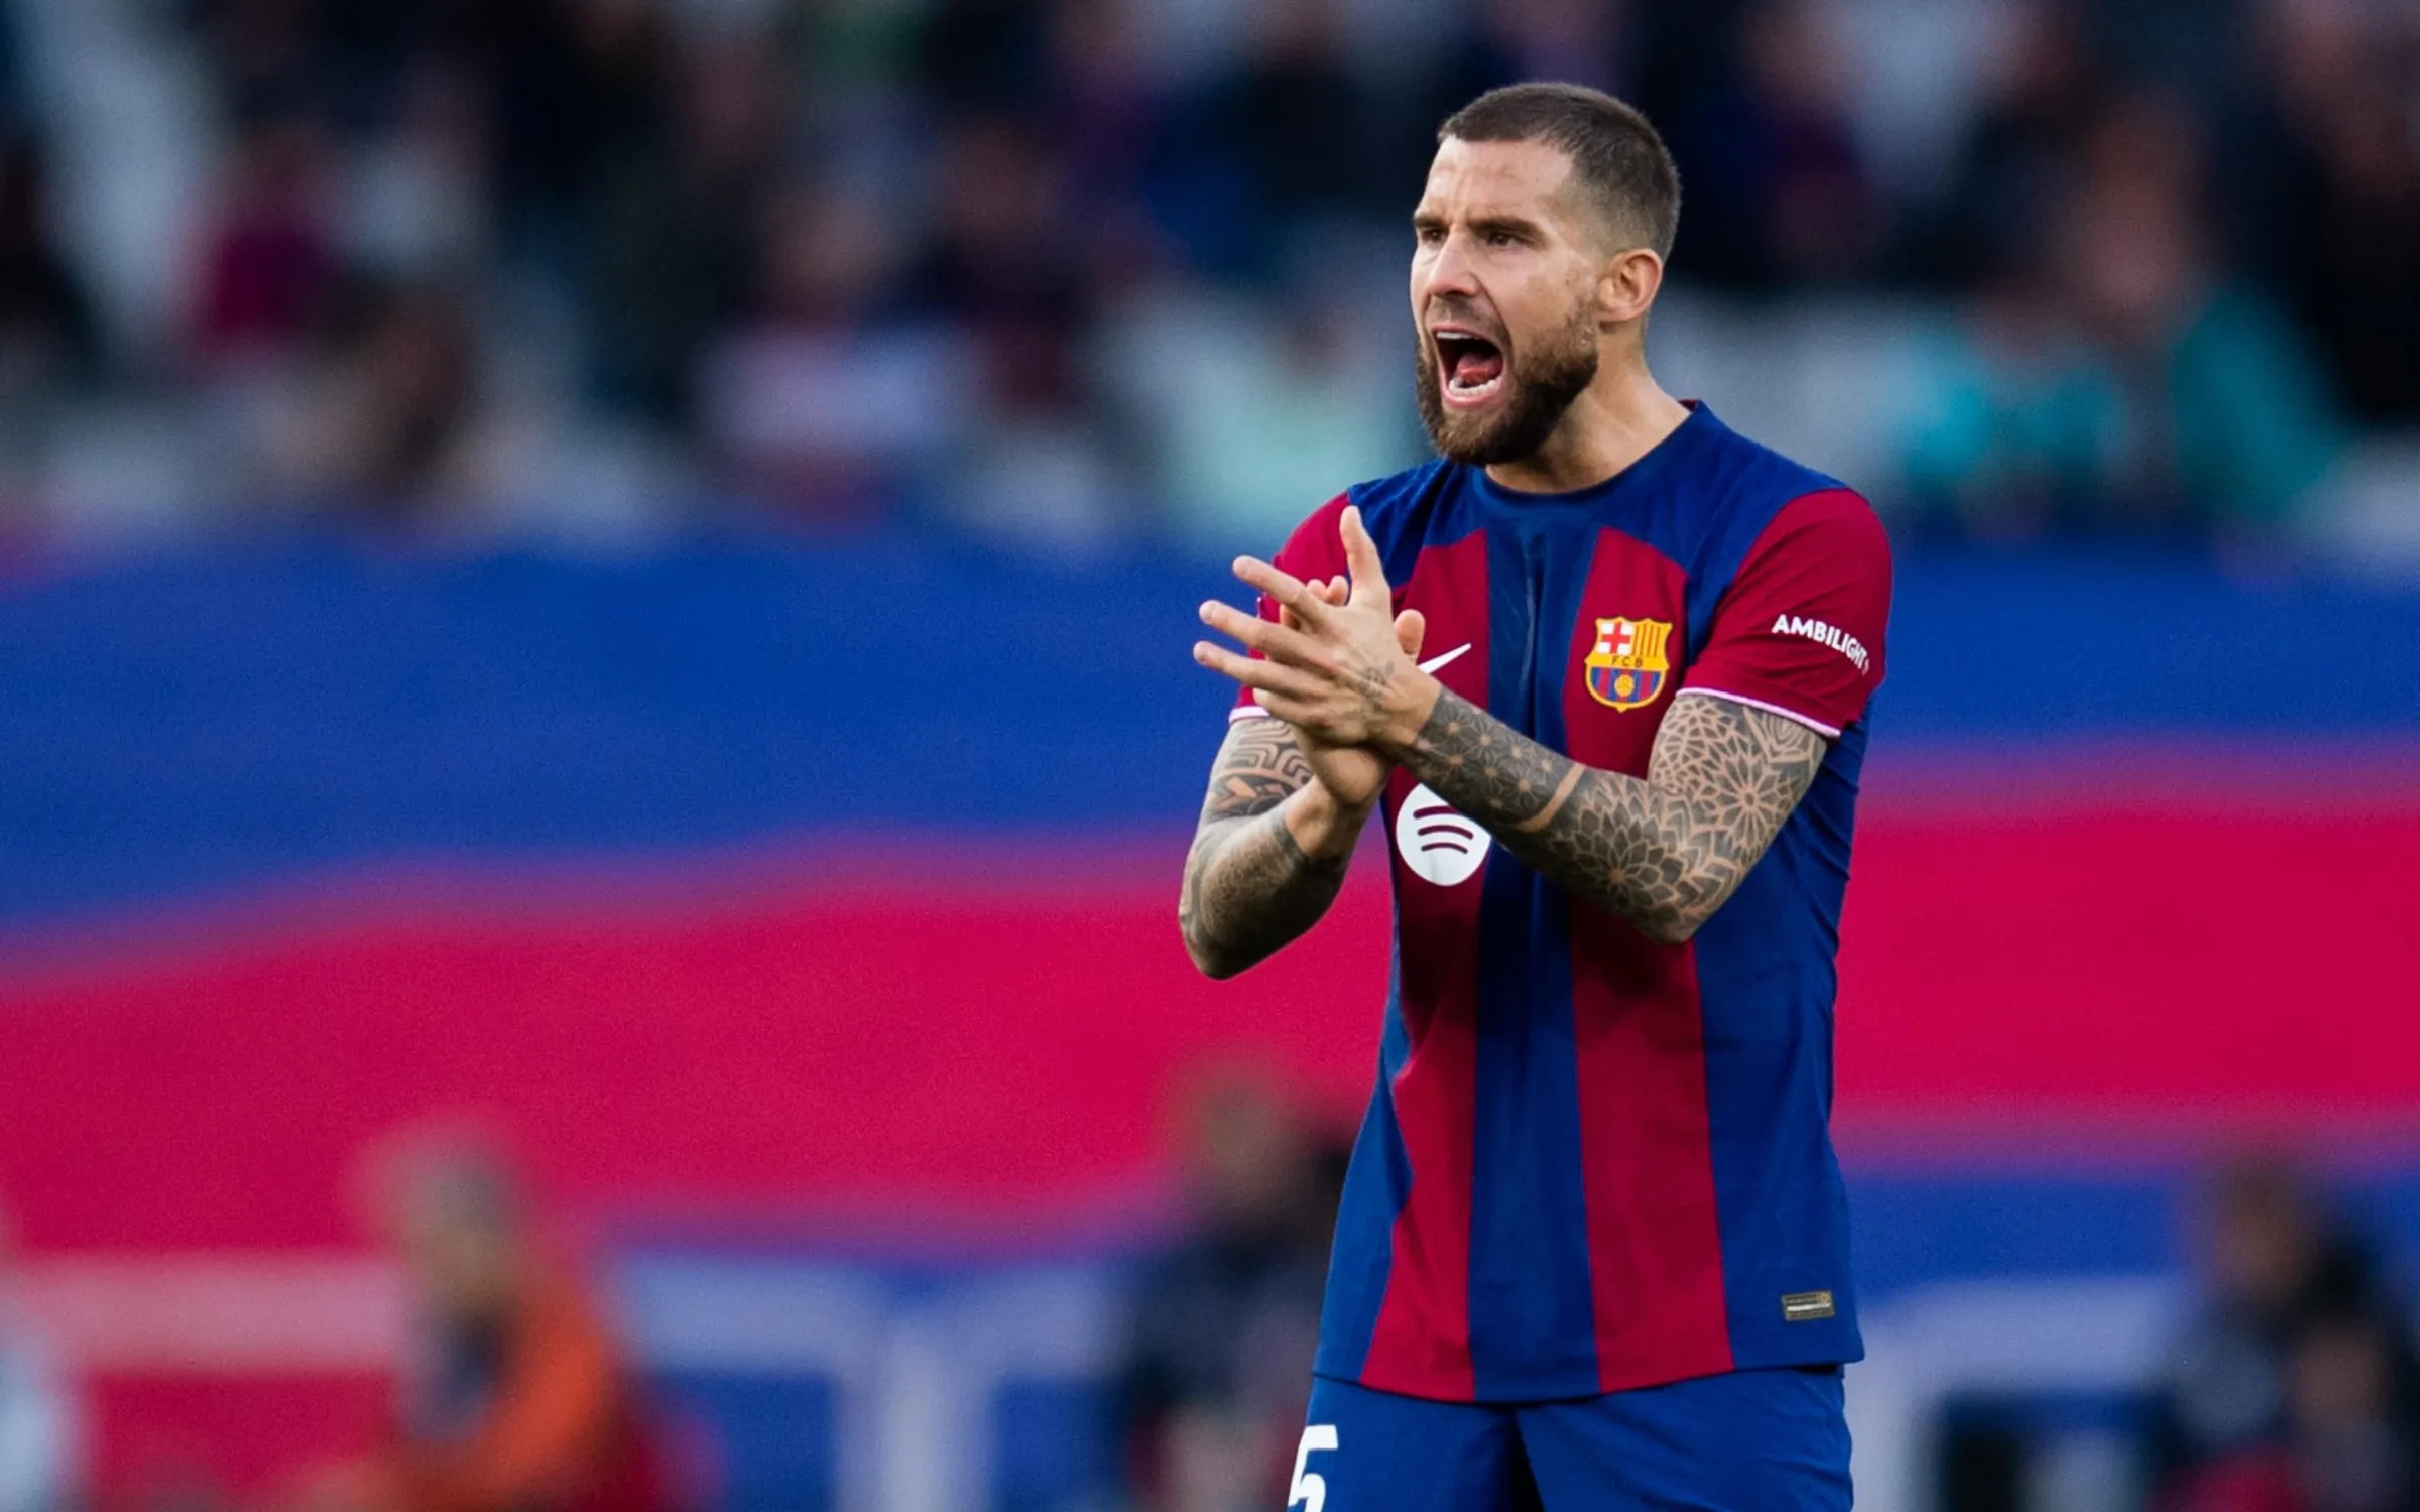
M 1404 755 L 1539 876 L 1677 943 L 1723 907 L 1822 767 L 1815 731 L 1730 699 L 1675 699 L 1646 781 L 1583 767 L 1442 694 Z

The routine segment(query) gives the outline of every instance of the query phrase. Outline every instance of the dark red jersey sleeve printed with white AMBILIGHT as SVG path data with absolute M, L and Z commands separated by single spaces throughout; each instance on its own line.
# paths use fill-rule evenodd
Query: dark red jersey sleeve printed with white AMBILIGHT
M 1849 489 L 1793 498 L 1723 590 L 1679 697 L 1767 709 L 1837 740 L 1883 682 L 1890 539 Z

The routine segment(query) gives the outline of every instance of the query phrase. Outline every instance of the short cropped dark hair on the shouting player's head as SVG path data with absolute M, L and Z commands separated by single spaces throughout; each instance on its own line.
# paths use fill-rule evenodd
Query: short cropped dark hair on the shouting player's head
M 1672 256 L 1679 167 L 1636 106 L 1583 85 L 1505 85 L 1469 102 L 1437 140 L 1546 143 L 1571 157 L 1580 191 L 1636 247 Z

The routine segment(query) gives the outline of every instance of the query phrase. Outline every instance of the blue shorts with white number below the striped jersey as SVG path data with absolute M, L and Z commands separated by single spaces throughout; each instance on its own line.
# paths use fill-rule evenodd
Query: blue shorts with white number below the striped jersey
M 1742 1369 L 1551 1403 L 1312 1384 L 1304 1512 L 1846 1512 L 1842 1372 Z

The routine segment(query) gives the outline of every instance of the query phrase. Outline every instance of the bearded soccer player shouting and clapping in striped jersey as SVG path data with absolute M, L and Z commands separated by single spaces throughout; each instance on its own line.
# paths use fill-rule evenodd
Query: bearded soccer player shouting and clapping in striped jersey
M 1394 975 L 1292 1502 L 1846 1507 L 1832 994 L 1890 554 L 1648 375 L 1679 181 L 1626 104 L 1486 94 L 1413 213 L 1440 457 L 1203 605 L 1244 651 L 1186 948 L 1309 929 L 1384 813 Z

